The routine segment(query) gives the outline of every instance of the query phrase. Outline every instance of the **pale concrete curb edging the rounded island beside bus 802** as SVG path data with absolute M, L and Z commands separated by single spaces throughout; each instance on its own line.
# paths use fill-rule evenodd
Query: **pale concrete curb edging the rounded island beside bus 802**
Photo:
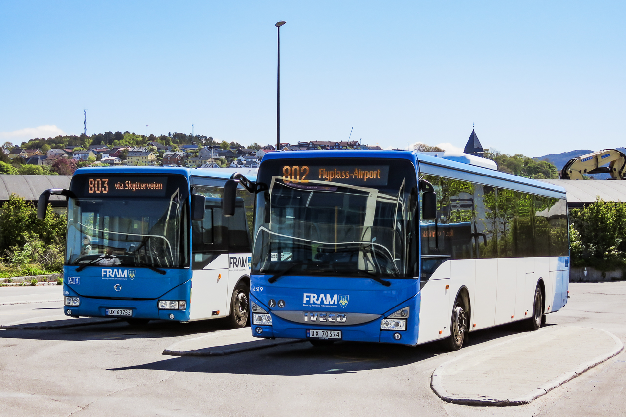
M 457 356 L 454 359 L 444 362 L 443 364 L 439 365 L 437 368 L 434 369 L 433 374 L 431 375 L 431 388 L 433 389 L 434 393 L 437 394 L 439 398 L 443 399 L 443 401 L 446 401 L 446 403 L 452 403 L 452 404 L 469 405 L 469 406 L 520 406 L 523 404 L 529 404 L 533 400 L 548 393 L 548 391 L 552 391 L 552 389 L 555 389 L 558 386 L 561 386 L 567 383 L 568 381 L 571 381 L 572 379 L 576 378 L 577 376 L 580 376 L 581 374 L 585 373 L 586 371 L 593 368 L 594 366 L 597 366 L 598 364 L 601 364 L 607 361 L 608 359 L 613 358 L 614 356 L 617 356 L 617 354 L 622 352 L 624 346 L 623 346 L 622 341 L 618 339 L 617 336 L 603 329 L 597 329 L 597 328 L 595 329 L 599 331 L 603 331 L 606 334 L 608 334 L 608 336 L 611 336 L 613 338 L 613 341 L 615 341 L 615 348 L 609 351 L 608 354 L 597 356 L 596 358 L 593 358 L 591 361 L 580 364 L 577 368 L 573 369 L 572 371 L 567 371 L 567 372 L 560 374 L 557 378 L 553 379 L 552 381 L 548 381 L 547 383 L 541 385 L 540 387 L 536 388 L 530 393 L 524 396 L 521 396 L 520 398 L 513 398 L 513 399 L 495 399 L 495 398 L 486 398 L 486 397 L 456 398 L 454 396 L 451 396 L 448 393 L 448 391 L 446 391 L 443 388 L 443 386 L 441 386 L 441 376 L 439 375 L 439 372 L 441 372 L 441 369 L 443 369 L 444 365 L 454 362 L 454 361 L 458 361 L 459 359 L 464 358 L 464 356 L 468 356 L 469 354 L 473 354 L 476 352 L 485 351 L 487 349 L 493 349 L 496 346 L 500 346 L 501 344 L 505 344 L 505 343 L 509 343 L 518 339 L 522 339 L 523 337 L 532 336 L 533 335 L 532 332 L 530 334 L 525 334 L 523 336 L 513 337 L 513 339 L 508 339 L 506 341 L 497 343 L 493 346 L 488 346 L 487 348 L 468 352 L 466 354 Z

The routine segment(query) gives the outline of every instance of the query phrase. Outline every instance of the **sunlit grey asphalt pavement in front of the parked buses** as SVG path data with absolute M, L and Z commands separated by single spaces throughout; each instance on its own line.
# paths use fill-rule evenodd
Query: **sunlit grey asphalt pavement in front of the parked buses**
M 3 291 L 13 288 L 0 289 L 0 300 Z M 625 340 L 620 319 L 626 282 L 572 283 L 570 295 L 562 311 L 548 315 L 545 329 L 530 333 L 510 324 L 473 332 L 455 353 L 438 343 L 314 348 L 299 342 L 227 356 L 163 355 L 176 344 L 190 346 L 193 339 L 224 331 L 220 321 L 1 330 L 0 415 L 624 415 L 623 353 L 526 405 L 446 403 L 431 388 L 439 366 L 543 330 L 602 329 Z M 0 324 L 65 319 L 62 314 L 60 302 L 0 306 Z M 535 352 L 541 356 L 541 349 Z

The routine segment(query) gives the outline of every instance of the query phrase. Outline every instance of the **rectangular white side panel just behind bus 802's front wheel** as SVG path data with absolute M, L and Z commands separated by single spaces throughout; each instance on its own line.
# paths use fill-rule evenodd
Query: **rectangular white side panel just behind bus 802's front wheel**
M 496 319 L 498 292 L 498 259 L 476 259 L 475 330 L 491 327 Z

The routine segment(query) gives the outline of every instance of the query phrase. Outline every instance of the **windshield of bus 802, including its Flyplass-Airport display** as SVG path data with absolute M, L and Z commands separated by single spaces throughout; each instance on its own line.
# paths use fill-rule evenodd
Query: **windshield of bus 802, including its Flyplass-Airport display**
M 408 160 L 270 160 L 259 181 L 254 274 L 416 276 Z

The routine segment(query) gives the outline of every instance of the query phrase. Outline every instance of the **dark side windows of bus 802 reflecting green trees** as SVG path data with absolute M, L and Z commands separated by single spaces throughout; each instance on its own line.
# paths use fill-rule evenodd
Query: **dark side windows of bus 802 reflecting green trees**
M 433 175 L 423 178 L 437 193 L 437 220 L 421 224 L 423 257 L 568 254 L 565 200 Z

